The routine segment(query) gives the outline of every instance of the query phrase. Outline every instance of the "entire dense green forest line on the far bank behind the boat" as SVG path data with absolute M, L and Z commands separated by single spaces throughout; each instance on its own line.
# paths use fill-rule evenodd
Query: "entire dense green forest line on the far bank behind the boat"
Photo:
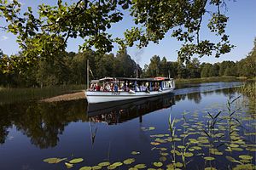
M 86 82 L 86 63 L 90 62 L 90 80 L 102 77 L 256 77 L 256 38 L 253 50 L 240 61 L 200 63 L 199 59 L 187 62 L 167 61 L 154 55 L 143 69 L 126 50 L 118 54 L 62 53 L 50 59 L 39 59 L 30 64 L 22 54 L 7 56 L 1 51 L 0 85 L 4 87 L 43 87 Z M 3 66 L 5 68 L 3 68 Z M 139 74 L 138 74 L 139 73 Z

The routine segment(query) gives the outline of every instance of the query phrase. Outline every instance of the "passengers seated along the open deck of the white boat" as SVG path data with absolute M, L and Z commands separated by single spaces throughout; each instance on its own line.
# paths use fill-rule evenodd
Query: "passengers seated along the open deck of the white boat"
M 120 85 L 120 88 L 119 88 Z M 97 82 L 93 82 L 90 84 L 90 91 L 102 91 L 102 92 L 117 92 L 117 91 L 125 91 L 129 92 L 130 90 L 136 92 L 149 92 L 149 91 L 158 91 L 159 84 L 154 82 L 153 86 L 150 88 L 149 85 L 145 84 L 131 84 L 131 83 L 116 83 L 116 82 L 105 82 L 100 86 Z

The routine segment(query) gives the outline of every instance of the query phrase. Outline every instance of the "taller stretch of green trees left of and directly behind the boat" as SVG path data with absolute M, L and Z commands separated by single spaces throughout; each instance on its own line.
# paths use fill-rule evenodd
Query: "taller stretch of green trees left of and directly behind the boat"
M 6 55 L 5 55 L 6 56 Z M 63 52 L 51 59 L 39 59 L 32 66 L 22 66 L 26 62 L 22 54 L 6 56 L 9 70 L 3 74 L 0 70 L 0 85 L 12 87 L 44 87 L 66 84 L 85 84 L 87 80 L 87 60 L 90 63 L 90 80 L 102 77 L 137 77 L 142 69 L 124 53 L 97 54 L 89 50 L 75 54 Z M 0 62 L 3 59 L 0 59 Z M 18 65 L 15 65 L 18 63 Z M 20 70 L 20 68 L 26 68 Z

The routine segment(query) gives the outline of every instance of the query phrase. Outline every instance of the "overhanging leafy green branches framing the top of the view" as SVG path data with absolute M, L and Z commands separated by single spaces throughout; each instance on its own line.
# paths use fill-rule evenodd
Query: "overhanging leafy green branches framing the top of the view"
M 225 5 L 224 0 L 77 0 L 71 4 L 58 0 L 55 6 L 38 5 L 36 14 L 32 7 L 21 13 L 18 0 L 1 0 L 0 18 L 7 21 L 1 28 L 17 35 L 28 64 L 65 52 L 69 38 L 83 38 L 82 51 L 95 48 L 105 54 L 113 49 L 113 42 L 121 48 L 134 44 L 142 48 L 148 42 L 160 42 L 168 31 L 183 42 L 177 54 L 184 61 L 194 54 L 202 57 L 215 52 L 219 57 L 234 47 L 225 33 L 229 20 L 223 12 Z M 123 20 L 125 11 L 134 18 L 134 27 L 124 32 L 125 38 L 113 38 L 108 29 Z M 208 31 L 218 42 L 200 37 L 202 21 L 208 16 Z

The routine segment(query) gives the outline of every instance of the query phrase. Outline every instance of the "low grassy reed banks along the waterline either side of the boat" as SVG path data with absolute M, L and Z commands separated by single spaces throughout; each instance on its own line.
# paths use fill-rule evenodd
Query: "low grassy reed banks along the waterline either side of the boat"
M 191 79 L 175 79 L 176 84 L 201 83 L 201 82 L 236 82 L 256 80 L 246 77 L 205 77 Z M 0 105 L 11 104 L 15 102 L 37 101 L 49 99 L 63 94 L 73 94 L 86 89 L 86 85 L 66 85 L 44 88 L 2 88 L 0 87 Z

